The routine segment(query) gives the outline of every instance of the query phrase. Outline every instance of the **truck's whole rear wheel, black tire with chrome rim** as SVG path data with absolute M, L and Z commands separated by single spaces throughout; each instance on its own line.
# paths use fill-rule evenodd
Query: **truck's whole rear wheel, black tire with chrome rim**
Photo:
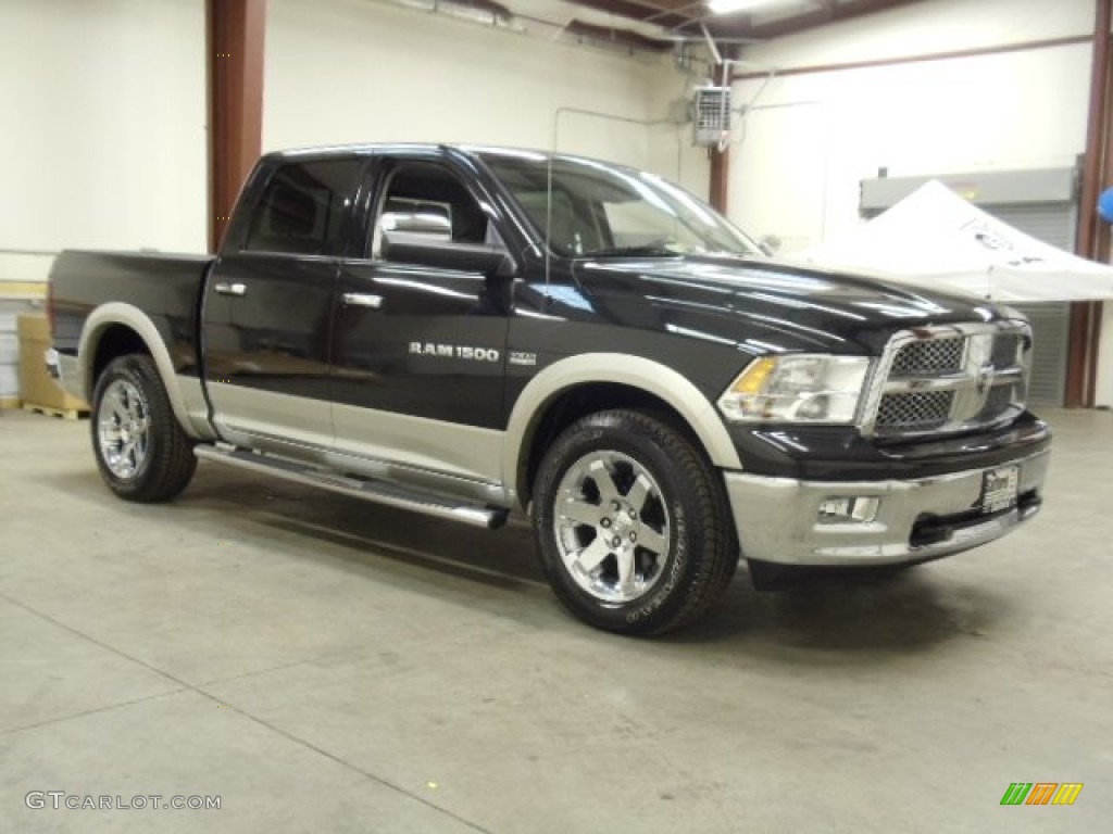
M 194 477 L 193 441 L 174 416 L 151 357 L 121 356 L 105 368 L 90 424 L 100 477 L 120 498 L 167 502 Z

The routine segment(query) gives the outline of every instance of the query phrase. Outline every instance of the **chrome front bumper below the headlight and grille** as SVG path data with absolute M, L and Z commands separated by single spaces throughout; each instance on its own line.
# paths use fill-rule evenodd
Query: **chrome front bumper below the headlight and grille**
M 1018 466 L 1018 493 L 1038 498 L 1050 456 L 1045 450 L 1001 466 Z M 915 480 L 828 483 L 735 471 L 725 477 L 745 558 L 784 565 L 893 565 L 968 550 L 1034 516 L 1038 500 L 1022 502 L 1009 513 L 944 529 L 930 544 L 912 544 L 913 528 L 925 515 L 946 519 L 975 508 L 985 473 L 1001 466 Z M 876 517 L 820 523 L 819 505 L 840 497 L 879 499 Z

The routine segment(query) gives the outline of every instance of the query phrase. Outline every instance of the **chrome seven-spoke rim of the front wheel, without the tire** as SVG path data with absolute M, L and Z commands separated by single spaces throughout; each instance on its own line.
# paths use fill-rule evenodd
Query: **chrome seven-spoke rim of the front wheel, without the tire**
M 669 555 L 669 508 L 657 480 L 629 455 L 599 449 L 564 473 L 553 507 L 569 575 L 604 603 L 633 602 L 660 580 Z

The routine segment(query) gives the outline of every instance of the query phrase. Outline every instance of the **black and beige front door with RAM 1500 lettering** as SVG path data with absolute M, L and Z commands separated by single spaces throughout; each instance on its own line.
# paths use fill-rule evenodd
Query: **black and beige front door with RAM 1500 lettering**
M 436 152 L 383 157 L 370 176 L 372 231 L 337 291 L 336 448 L 372 471 L 388 461 L 395 478 L 449 475 L 482 493 L 501 479 L 508 310 L 494 282 L 505 279 L 392 262 L 380 230 L 420 215 L 442 240 L 501 241 L 492 201 Z

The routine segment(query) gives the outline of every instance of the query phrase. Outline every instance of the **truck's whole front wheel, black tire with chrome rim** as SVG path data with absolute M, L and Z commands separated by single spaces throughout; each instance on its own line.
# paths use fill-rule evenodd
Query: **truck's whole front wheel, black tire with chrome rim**
M 560 435 L 538 471 L 533 525 L 556 597 L 620 634 L 696 619 L 738 563 L 716 471 L 683 434 L 641 411 L 592 414 Z

